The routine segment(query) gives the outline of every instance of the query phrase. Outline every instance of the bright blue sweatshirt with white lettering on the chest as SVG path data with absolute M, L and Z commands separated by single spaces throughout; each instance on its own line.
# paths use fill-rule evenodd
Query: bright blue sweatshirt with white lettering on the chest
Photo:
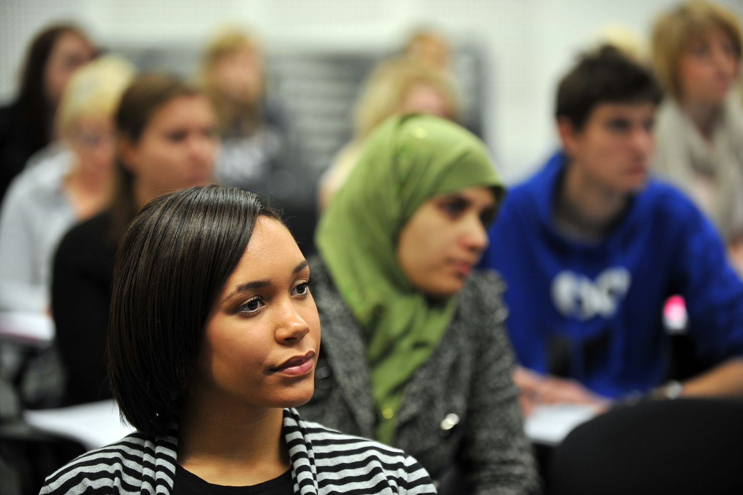
M 508 331 L 522 365 L 563 372 L 607 397 L 658 386 L 672 294 L 686 300 L 698 357 L 743 356 L 743 282 L 710 221 L 650 179 L 601 242 L 566 239 L 552 219 L 564 162 L 554 155 L 510 191 L 484 254 L 483 265 L 507 283 Z

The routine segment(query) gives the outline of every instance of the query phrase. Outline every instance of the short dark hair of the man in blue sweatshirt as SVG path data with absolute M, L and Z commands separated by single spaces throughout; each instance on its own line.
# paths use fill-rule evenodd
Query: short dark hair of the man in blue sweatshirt
M 581 130 L 600 103 L 661 102 L 662 91 L 652 72 L 604 45 L 583 54 L 577 65 L 562 77 L 557 88 L 557 118 L 567 118 Z

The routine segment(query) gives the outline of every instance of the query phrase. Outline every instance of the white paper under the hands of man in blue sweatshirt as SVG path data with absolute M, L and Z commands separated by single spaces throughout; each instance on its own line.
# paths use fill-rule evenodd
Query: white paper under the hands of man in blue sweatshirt
M 540 444 L 557 445 L 581 423 L 597 415 L 593 406 L 585 404 L 549 404 L 536 406 L 526 418 L 526 436 Z

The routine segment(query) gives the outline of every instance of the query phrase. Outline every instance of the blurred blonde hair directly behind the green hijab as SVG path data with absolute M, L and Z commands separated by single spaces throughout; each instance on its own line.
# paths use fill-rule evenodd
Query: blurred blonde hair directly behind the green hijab
M 354 138 L 363 139 L 383 120 L 397 113 L 416 84 L 435 88 L 449 107 L 447 117 L 458 120 L 460 107 L 450 74 L 408 57 L 389 59 L 374 68 L 354 106 Z

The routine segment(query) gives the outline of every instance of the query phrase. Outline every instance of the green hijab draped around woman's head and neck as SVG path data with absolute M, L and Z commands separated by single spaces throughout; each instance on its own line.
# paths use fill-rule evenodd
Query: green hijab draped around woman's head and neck
M 398 235 L 429 198 L 468 187 L 490 187 L 496 200 L 502 194 L 475 135 L 430 115 L 391 117 L 369 136 L 317 227 L 319 253 L 366 334 L 376 434 L 387 444 L 403 386 L 438 345 L 456 308 L 456 297 L 432 302 L 403 274 Z

